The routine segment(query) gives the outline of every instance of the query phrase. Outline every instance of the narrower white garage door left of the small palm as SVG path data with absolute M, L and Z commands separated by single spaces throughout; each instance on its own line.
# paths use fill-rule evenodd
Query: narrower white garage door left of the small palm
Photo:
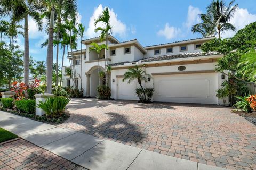
M 123 78 L 117 78 L 117 99 L 118 100 L 139 100 L 135 89 L 139 88 L 137 81 L 132 81 L 128 84 L 127 81 L 122 81 Z

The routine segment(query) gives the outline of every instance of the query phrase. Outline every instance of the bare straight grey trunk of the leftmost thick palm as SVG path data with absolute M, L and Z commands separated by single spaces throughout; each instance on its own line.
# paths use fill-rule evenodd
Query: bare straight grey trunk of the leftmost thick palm
M 29 38 L 28 38 L 28 15 L 24 18 L 24 83 L 28 85 L 29 79 Z

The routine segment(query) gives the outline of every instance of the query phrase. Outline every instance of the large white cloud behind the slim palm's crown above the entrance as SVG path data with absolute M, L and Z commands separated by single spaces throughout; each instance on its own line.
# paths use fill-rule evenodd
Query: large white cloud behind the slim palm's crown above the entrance
M 97 19 L 99 15 L 102 14 L 104 8 L 100 4 L 97 8 L 95 8 L 93 15 L 90 18 L 89 21 L 89 27 L 87 28 L 85 35 L 87 38 L 97 37 L 100 35 L 100 32 L 95 33 L 94 29 L 94 19 Z M 121 21 L 117 19 L 117 14 L 114 12 L 113 9 L 109 10 L 110 13 L 110 24 L 113 26 L 112 33 L 113 35 L 119 35 L 121 37 L 124 37 L 127 32 L 126 25 Z M 102 23 L 98 23 L 97 27 L 102 27 Z

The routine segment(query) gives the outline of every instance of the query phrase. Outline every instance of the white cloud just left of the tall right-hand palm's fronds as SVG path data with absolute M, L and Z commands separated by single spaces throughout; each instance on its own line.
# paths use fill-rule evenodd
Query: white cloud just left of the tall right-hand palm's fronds
M 185 27 L 187 27 L 188 30 L 190 30 L 194 24 L 197 24 L 201 21 L 198 16 L 198 14 L 200 13 L 202 13 L 202 11 L 199 8 L 189 5 L 187 21 L 184 23 Z

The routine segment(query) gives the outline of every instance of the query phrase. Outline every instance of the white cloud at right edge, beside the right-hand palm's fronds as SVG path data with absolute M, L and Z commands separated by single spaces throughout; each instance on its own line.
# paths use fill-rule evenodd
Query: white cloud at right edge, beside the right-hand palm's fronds
M 247 9 L 238 8 L 234 17 L 230 20 L 230 23 L 236 27 L 236 31 L 244 28 L 247 24 L 256 21 L 256 14 L 250 14 Z M 223 37 L 232 37 L 236 31 L 226 31 Z

